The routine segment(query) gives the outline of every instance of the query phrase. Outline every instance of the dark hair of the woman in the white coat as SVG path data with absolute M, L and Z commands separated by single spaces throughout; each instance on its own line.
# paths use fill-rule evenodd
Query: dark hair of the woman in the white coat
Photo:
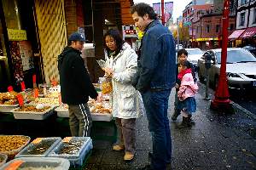
M 124 41 L 123 41 L 123 39 L 120 35 L 120 32 L 118 30 L 110 29 L 105 33 L 105 35 L 103 37 L 104 48 L 106 48 L 106 50 L 109 54 L 111 52 L 111 50 L 107 47 L 106 42 L 105 42 L 107 36 L 113 37 L 114 42 L 115 42 L 116 47 L 117 47 L 117 49 L 115 50 L 115 54 L 119 54 L 119 52 L 122 49 L 123 44 L 124 44 Z

